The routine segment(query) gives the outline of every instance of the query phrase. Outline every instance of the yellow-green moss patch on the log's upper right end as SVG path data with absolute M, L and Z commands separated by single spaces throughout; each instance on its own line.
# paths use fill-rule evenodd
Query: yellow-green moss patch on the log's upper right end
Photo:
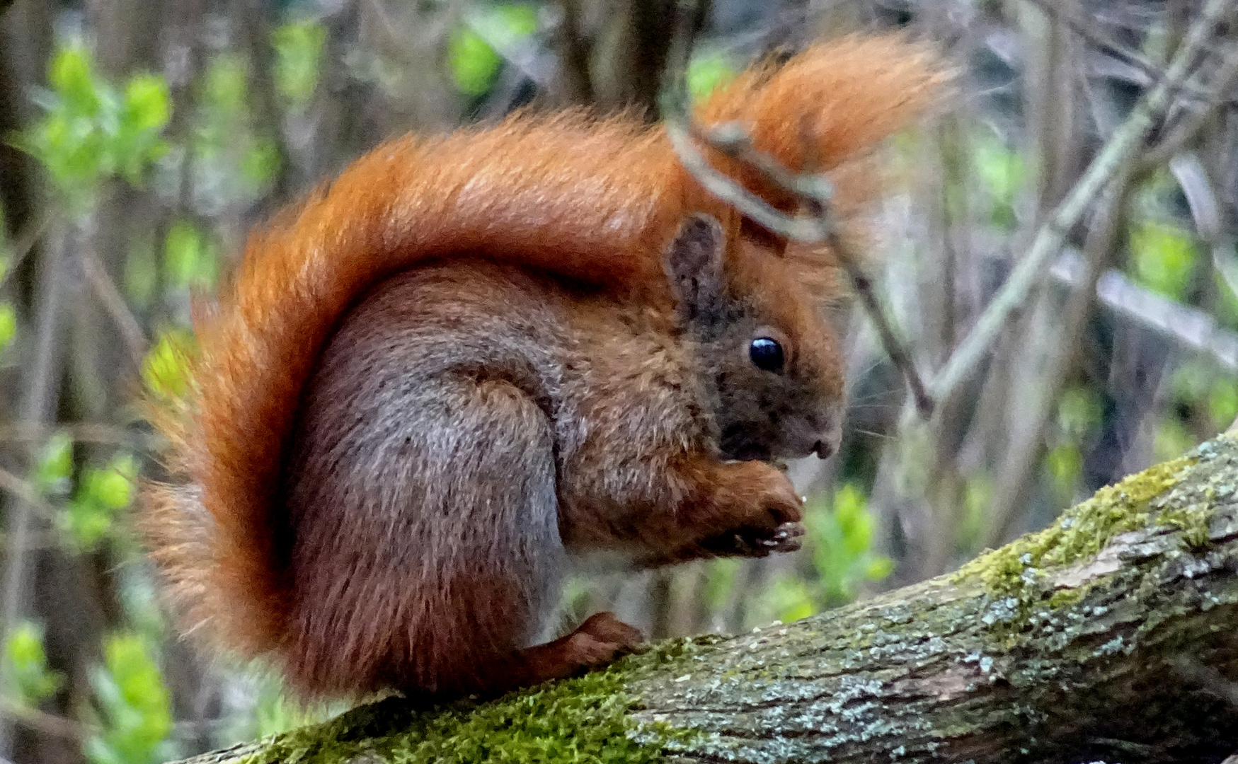
M 1097 555 L 1115 536 L 1149 527 L 1171 525 L 1198 536 L 1202 525 L 1207 539 L 1207 519 L 1201 513 L 1177 510 L 1158 511 L 1151 500 L 1175 485 L 1181 472 L 1196 459 L 1182 457 L 1158 464 L 1138 474 L 1107 485 L 1087 501 L 1062 513 L 1057 521 L 1029 534 L 999 550 L 977 557 L 963 566 L 954 581 L 978 577 L 993 594 L 1013 597 L 1025 592 L 1042 568 L 1073 565 Z

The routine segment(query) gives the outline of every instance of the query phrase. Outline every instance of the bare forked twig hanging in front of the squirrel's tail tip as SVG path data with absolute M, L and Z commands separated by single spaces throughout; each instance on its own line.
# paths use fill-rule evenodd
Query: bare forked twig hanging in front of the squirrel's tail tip
M 826 244 L 831 248 L 851 277 L 860 303 L 877 327 L 881 345 L 906 380 L 916 409 L 921 416 L 927 417 L 932 414 L 933 401 L 916 371 L 911 354 L 895 336 L 885 312 L 881 310 L 873 281 L 859 266 L 859 258 L 839 235 L 829 203 L 833 193 L 829 180 L 825 175 L 795 173 L 784 167 L 774 157 L 758 151 L 740 125 L 725 124 L 706 129 L 693 124 L 685 80 L 687 56 L 691 50 L 691 24 L 687 24 L 686 20 L 691 19 L 692 14 L 682 7 L 680 12 L 680 28 L 672 42 L 667 64 L 667 85 L 661 94 L 666 134 L 680 162 L 706 191 L 728 202 L 755 223 L 795 241 Z M 755 170 L 771 184 L 791 193 L 807 214 L 789 215 L 776 209 L 760 196 L 716 170 L 697 147 L 698 145 L 708 146 Z

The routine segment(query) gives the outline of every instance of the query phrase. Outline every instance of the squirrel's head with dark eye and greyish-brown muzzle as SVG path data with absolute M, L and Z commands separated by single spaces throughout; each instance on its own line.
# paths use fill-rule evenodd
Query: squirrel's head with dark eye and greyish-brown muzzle
M 725 458 L 837 451 L 843 415 L 838 341 L 773 253 L 727 254 L 722 225 L 687 218 L 664 254 L 676 323 L 704 371 Z

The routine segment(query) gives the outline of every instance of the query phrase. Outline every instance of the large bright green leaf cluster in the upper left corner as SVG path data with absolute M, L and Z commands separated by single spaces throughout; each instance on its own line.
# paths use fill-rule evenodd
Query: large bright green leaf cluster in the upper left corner
M 99 182 L 120 176 L 139 183 L 167 152 L 162 139 L 172 105 L 162 77 L 137 74 L 123 88 L 99 77 L 80 45 L 61 47 L 38 98 L 42 119 L 15 144 L 47 167 L 72 212 L 83 212 Z

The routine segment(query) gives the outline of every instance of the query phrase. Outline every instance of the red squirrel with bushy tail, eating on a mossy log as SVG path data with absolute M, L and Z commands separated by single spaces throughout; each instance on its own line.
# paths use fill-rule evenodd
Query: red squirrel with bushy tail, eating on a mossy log
M 829 173 L 851 219 L 869 150 L 942 78 L 922 46 L 846 37 L 696 119 Z M 534 644 L 569 558 L 799 547 L 771 462 L 837 447 L 832 271 L 631 116 L 379 146 L 251 237 L 196 316 L 187 391 L 149 395 L 170 477 L 140 520 L 183 628 L 311 697 L 498 693 L 614 660 L 640 634 L 609 613 Z

